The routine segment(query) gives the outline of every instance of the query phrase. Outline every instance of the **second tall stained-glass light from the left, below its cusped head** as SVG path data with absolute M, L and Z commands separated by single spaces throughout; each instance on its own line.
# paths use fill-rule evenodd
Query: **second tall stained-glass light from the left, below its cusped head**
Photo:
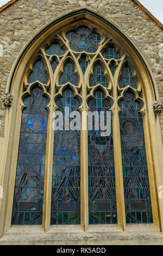
M 80 106 L 71 89 L 66 89 L 56 103 L 63 117 L 65 107 L 71 113 Z M 65 124 L 65 118 L 62 123 Z M 80 131 L 77 130 L 54 131 L 51 224 L 80 224 Z

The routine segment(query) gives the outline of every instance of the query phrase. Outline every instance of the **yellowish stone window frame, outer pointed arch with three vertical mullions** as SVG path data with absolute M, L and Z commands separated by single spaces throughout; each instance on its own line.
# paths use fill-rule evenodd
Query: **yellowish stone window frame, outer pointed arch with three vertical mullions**
M 114 42 L 116 47 L 118 48 L 118 42 L 121 42 L 121 49 L 123 52 L 122 58 L 127 58 L 127 62 L 129 63 L 131 69 L 133 70 L 133 74 L 137 75 L 139 77 L 138 82 L 138 89 L 137 89 L 137 97 L 139 97 L 139 92 L 142 89 L 142 97 L 145 101 L 145 104 L 142 108 L 143 113 L 143 126 L 144 126 L 144 132 L 145 132 L 145 143 L 146 143 L 146 154 L 147 154 L 147 163 L 148 163 L 148 175 L 149 175 L 149 184 L 150 184 L 150 190 L 151 190 L 151 200 L 152 200 L 152 210 L 153 210 L 153 218 L 154 218 L 154 224 L 158 230 L 161 231 L 161 228 L 163 227 L 163 207 L 161 205 L 161 199 L 158 197 L 158 188 L 159 185 L 161 185 L 161 181 L 163 180 L 160 170 L 160 164 L 161 164 L 161 147 L 159 143 L 159 138 L 161 138 L 161 132 L 158 131 L 158 127 L 156 124 L 158 123 L 158 118 L 155 117 L 153 112 L 153 105 L 152 102 L 158 99 L 158 89 L 156 87 L 156 83 L 154 80 L 154 77 L 152 75 L 152 71 L 149 68 L 145 58 L 141 55 L 141 53 L 137 50 L 136 46 L 127 38 L 126 35 L 124 35 L 120 29 L 116 28 L 115 25 L 113 25 L 111 22 L 108 22 L 104 20 L 101 16 L 97 15 L 96 13 L 87 10 L 87 9 L 80 9 L 76 11 L 72 11 L 71 13 L 68 13 L 67 15 L 61 16 L 59 19 L 48 23 L 45 27 L 43 27 L 39 32 L 37 32 L 36 35 L 33 36 L 33 38 L 28 42 L 26 47 L 23 48 L 20 55 L 17 58 L 17 63 L 14 64 L 11 70 L 11 74 L 8 81 L 8 88 L 7 90 L 13 95 L 14 101 L 12 104 L 12 107 L 8 109 L 7 118 L 8 118 L 8 143 L 5 150 L 5 164 L 4 164 L 4 197 L 6 198 L 1 203 L 1 214 L 0 214 L 0 220 L 1 220 L 1 230 L 0 230 L 0 236 L 7 234 L 8 231 L 11 230 L 11 233 L 13 230 L 19 230 L 20 228 L 11 226 L 11 214 L 12 214 L 12 201 L 14 196 L 14 186 L 15 186 L 15 175 L 16 175 L 16 165 L 17 165 L 17 153 L 18 153 L 18 141 L 19 141 L 19 135 L 20 135 L 20 124 L 21 124 L 21 114 L 22 109 L 24 107 L 23 105 L 23 98 L 21 98 L 23 93 L 23 87 L 24 87 L 24 81 L 27 81 L 27 69 L 29 70 L 29 66 L 31 63 L 34 63 L 37 54 L 39 54 L 40 48 L 47 42 L 48 40 L 51 40 L 52 35 L 57 34 L 62 29 L 66 28 L 67 26 L 79 26 L 80 24 L 87 25 L 88 27 L 96 27 L 97 29 L 100 29 L 100 31 L 104 31 L 105 34 L 109 34 L 111 38 L 114 38 Z M 66 29 L 65 29 L 66 33 Z M 43 54 L 43 52 L 42 52 Z M 34 56 L 32 58 L 32 56 Z M 47 63 L 46 63 L 47 64 Z M 122 62 L 123 64 L 123 62 Z M 48 65 L 48 64 L 47 64 Z M 77 62 L 75 65 L 79 65 Z M 122 65 L 120 67 L 120 70 L 122 68 Z M 115 76 L 115 82 L 118 82 L 118 75 L 120 73 L 117 72 L 117 75 Z M 141 71 L 141 72 L 140 72 Z M 52 72 L 49 74 L 49 79 L 52 81 Z M 87 76 L 89 77 L 89 76 Z M 25 78 L 25 79 L 24 79 Z M 86 81 L 88 83 L 88 81 Z M 49 82 L 48 82 L 49 84 Z M 25 82 L 25 87 L 27 86 L 27 83 Z M 79 84 L 80 87 L 80 84 Z M 53 88 L 53 86 L 52 86 Z M 85 87 L 86 88 L 86 87 Z M 44 88 L 44 90 L 46 87 Z M 78 94 L 78 90 L 75 89 L 72 86 L 72 89 L 76 94 Z M 108 92 L 105 92 L 105 95 L 109 94 Z M 87 92 L 86 89 L 83 90 L 83 106 L 85 106 L 86 110 L 86 96 Z M 103 91 L 105 91 L 103 89 Z M 136 90 L 135 90 L 136 92 Z M 27 88 L 27 93 L 29 92 L 29 87 Z M 53 93 L 51 92 L 53 95 Z M 93 95 L 93 89 L 92 93 Z M 115 93 L 116 94 L 116 93 Z M 24 94 L 23 94 L 24 95 Z M 62 95 L 62 90 L 60 92 L 60 95 Z M 108 95 L 109 96 L 109 95 Z M 117 97 L 117 95 L 116 95 Z M 122 95 L 123 97 L 123 95 Z M 50 105 L 49 105 L 50 108 Z M 55 106 L 53 108 L 53 105 L 51 104 L 51 108 L 55 109 Z M 52 115 L 52 109 L 49 109 L 49 114 Z M 117 114 L 118 114 L 118 108 L 117 108 Z M 118 125 L 118 115 L 114 115 L 114 125 Z M 52 127 L 52 117 L 49 118 L 49 127 Z M 81 227 L 69 226 L 68 229 L 70 229 L 72 232 L 73 230 L 76 230 L 75 232 L 80 232 L 81 230 L 84 230 L 85 232 L 94 232 L 96 229 L 98 230 L 104 230 L 105 232 L 109 232 L 112 229 L 115 229 L 117 231 L 117 227 L 120 228 L 120 230 L 125 231 L 128 228 L 128 225 L 126 225 L 126 214 L 124 209 L 124 196 L 123 196 L 123 175 L 122 175 L 122 160 L 121 157 L 121 150 L 120 150 L 120 132 L 118 133 L 116 130 L 114 131 L 116 133 L 115 137 L 117 136 L 117 142 L 115 144 L 116 149 L 116 156 L 117 161 L 115 162 L 115 168 L 118 170 L 116 174 L 116 183 L 118 186 L 116 186 L 116 193 L 117 193 L 117 214 L 118 214 L 118 225 L 97 225 L 98 227 L 92 227 L 92 225 L 89 225 L 88 223 L 88 189 L 87 189 L 87 143 L 85 141 L 87 140 L 87 132 L 82 131 L 81 137 L 82 137 L 82 145 L 81 145 L 81 158 L 83 160 L 82 164 L 82 198 L 81 198 Z M 160 134 L 158 134 L 160 132 Z M 50 217 L 51 217 L 51 188 L 52 188 L 52 182 L 51 182 L 51 173 L 49 173 L 49 170 L 52 170 L 52 161 L 51 156 L 53 154 L 53 132 L 52 128 L 50 128 L 49 136 L 47 139 L 47 154 L 46 154 L 46 172 L 45 172 L 45 192 L 44 192 L 44 203 L 43 203 L 43 218 L 42 218 L 42 228 L 45 231 L 45 233 L 49 232 L 61 232 L 64 233 L 65 226 L 63 227 L 57 227 L 57 226 L 51 226 L 50 225 Z M 158 170 L 157 172 L 155 170 Z M 2 201 L 2 199 L 1 199 Z M 136 225 L 136 224 L 135 224 Z M 133 225 L 133 227 L 135 226 Z M 103 227 L 101 227 L 103 226 Z M 113 227 L 114 226 L 114 227 Z M 149 224 L 143 224 L 143 227 L 148 227 Z M 23 226 L 22 230 L 28 230 L 29 233 L 33 233 L 35 230 L 34 227 L 27 227 Z M 151 224 L 150 224 L 151 227 Z M 82 228 L 82 229 L 81 229 Z M 136 228 L 137 229 L 137 228 Z

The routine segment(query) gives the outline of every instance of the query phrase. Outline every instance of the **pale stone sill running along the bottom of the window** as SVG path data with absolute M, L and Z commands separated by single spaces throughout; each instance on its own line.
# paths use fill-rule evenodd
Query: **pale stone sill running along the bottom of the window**
M 163 245 L 163 233 L 154 224 L 128 224 L 123 232 L 118 225 L 89 225 L 84 232 L 80 225 L 51 226 L 45 233 L 42 226 L 11 225 L 1 237 L 0 245 Z

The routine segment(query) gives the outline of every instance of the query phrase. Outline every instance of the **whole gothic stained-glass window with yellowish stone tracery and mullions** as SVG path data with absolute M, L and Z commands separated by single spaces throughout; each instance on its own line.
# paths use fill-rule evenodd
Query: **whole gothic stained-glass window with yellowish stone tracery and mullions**
M 158 224 L 146 94 L 121 41 L 94 23 L 73 21 L 37 47 L 20 94 L 11 224 Z M 78 113 L 80 129 L 71 129 L 66 109 Z M 54 130 L 58 111 L 63 130 Z M 89 129 L 92 112 L 98 117 Z M 102 120 L 106 127 L 109 117 L 103 135 L 95 126 Z

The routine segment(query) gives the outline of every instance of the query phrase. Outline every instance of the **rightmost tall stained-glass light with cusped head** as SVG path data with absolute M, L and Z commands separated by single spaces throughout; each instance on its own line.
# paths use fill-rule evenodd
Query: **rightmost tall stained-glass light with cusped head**
M 121 149 L 127 223 L 152 223 L 143 121 L 140 104 L 127 92 L 120 102 Z

